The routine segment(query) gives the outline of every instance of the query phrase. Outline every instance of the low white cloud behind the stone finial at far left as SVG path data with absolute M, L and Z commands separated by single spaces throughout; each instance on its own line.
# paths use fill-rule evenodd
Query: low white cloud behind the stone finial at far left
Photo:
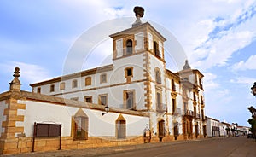
M 0 64 L 1 69 L 10 75 L 14 72 L 15 67 L 20 67 L 20 81 L 26 81 L 26 84 L 32 84 L 49 78 L 49 71 L 44 67 L 24 62 L 7 61 Z

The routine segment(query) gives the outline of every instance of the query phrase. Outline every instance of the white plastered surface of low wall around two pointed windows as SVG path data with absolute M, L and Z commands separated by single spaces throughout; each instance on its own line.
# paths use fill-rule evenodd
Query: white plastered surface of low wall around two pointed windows
M 79 108 L 67 107 L 47 102 L 19 101 L 26 104 L 24 112 L 24 132 L 26 137 L 32 137 L 33 124 L 37 123 L 61 123 L 62 136 L 71 136 L 72 116 Z M 119 113 L 107 113 L 102 116 L 102 111 L 83 108 L 89 117 L 90 137 L 115 137 L 115 121 Z M 126 120 L 126 136 L 141 136 L 149 123 L 148 117 L 122 114 Z

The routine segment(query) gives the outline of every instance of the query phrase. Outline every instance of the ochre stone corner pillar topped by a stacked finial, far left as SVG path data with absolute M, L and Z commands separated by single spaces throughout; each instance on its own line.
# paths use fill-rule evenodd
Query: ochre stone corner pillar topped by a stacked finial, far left
M 15 78 L 12 80 L 9 87 L 9 92 L 6 93 L 3 116 L 5 121 L 2 122 L 1 133 L 1 154 L 19 154 L 19 137 L 24 135 L 24 126 L 17 126 L 20 122 L 24 122 L 24 115 L 19 115 L 19 109 L 26 109 L 26 104 L 18 103 L 22 99 L 20 92 L 20 68 L 15 67 Z M 4 101 L 4 100 L 3 100 Z

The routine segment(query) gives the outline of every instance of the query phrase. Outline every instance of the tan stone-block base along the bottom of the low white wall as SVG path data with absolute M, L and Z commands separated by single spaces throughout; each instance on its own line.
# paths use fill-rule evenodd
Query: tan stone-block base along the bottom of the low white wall
M 0 144 L 3 142 L 0 142 Z M 73 140 L 73 137 L 61 137 L 61 149 L 83 149 L 98 147 L 113 147 L 128 144 L 144 143 L 143 137 L 128 137 L 116 139 L 113 137 L 89 137 L 88 140 Z M 34 143 L 35 152 L 55 151 L 60 147 L 60 139 L 36 138 Z M 32 137 L 19 137 L 4 141 L 2 154 L 23 154 L 32 152 Z

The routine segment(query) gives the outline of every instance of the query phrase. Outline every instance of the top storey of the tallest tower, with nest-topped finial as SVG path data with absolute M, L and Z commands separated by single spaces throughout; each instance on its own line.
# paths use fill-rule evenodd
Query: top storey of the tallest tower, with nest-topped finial
M 110 35 L 113 38 L 113 60 L 148 51 L 160 61 L 165 61 L 164 42 L 166 38 L 148 22 L 142 22 L 141 18 L 144 15 L 142 7 L 135 7 L 133 11 L 136 21 L 132 27 Z

